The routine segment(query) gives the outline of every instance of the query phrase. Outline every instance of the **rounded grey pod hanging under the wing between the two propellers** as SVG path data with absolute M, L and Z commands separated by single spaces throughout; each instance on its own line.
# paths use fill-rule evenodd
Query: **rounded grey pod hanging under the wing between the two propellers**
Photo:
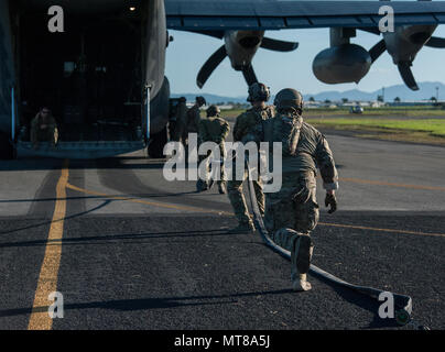
M 357 44 L 343 44 L 321 52 L 312 64 L 315 77 L 329 85 L 356 82 L 371 67 L 368 51 Z

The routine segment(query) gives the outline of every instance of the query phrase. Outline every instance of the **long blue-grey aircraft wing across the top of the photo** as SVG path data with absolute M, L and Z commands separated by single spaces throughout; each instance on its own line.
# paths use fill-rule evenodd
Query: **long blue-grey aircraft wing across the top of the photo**
M 165 0 L 167 28 L 182 31 L 376 29 L 382 6 L 395 25 L 445 23 L 445 1 Z

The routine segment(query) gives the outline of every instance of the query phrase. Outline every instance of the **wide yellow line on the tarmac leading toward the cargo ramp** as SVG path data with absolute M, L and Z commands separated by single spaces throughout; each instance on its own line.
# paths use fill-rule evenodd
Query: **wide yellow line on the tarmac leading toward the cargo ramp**
M 57 275 L 62 256 L 62 238 L 64 232 L 64 219 L 66 215 L 66 185 L 68 184 L 69 162 L 65 160 L 62 175 L 56 187 L 56 204 L 51 222 L 45 256 L 39 275 L 37 288 L 35 290 L 34 304 L 28 330 L 51 330 L 53 319 L 50 318 L 46 309 L 48 295 L 57 290 Z M 50 244 L 51 243 L 51 244 Z

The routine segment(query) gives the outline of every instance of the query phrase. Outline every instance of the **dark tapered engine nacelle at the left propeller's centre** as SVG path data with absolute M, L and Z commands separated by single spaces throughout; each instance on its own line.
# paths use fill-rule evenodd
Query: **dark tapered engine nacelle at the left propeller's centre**
M 224 37 L 227 55 L 236 70 L 248 67 L 264 36 L 262 31 L 228 31 Z

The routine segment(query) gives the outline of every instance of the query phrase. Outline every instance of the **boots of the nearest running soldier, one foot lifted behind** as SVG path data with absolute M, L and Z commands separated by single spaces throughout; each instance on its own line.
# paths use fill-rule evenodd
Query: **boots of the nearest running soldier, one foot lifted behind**
M 311 267 L 313 250 L 311 237 L 308 234 L 299 235 L 291 252 L 292 288 L 296 292 L 312 289 L 312 285 L 307 280 L 307 272 Z

